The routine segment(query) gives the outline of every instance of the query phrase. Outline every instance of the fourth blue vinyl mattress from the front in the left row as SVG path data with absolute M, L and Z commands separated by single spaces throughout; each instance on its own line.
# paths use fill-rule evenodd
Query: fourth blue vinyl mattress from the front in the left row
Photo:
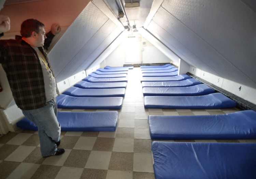
M 127 82 L 115 82 L 115 83 L 92 83 L 88 81 L 79 81 L 74 87 L 83 89 L 104 89 L 104 88 L 126 88 Z

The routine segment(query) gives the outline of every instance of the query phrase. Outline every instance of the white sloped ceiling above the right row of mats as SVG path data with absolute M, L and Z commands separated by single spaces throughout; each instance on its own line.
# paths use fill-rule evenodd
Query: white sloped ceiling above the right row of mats
M 256 88 L 256 13 L 241 0 L 164 0 L 147 31 L 191 66 Z

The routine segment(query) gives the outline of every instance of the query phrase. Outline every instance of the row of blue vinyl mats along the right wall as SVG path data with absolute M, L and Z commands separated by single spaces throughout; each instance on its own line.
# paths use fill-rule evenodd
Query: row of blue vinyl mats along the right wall
M 170 67 L 170 66 L 169 66 Z M 142 71 L 145 108 L 212 109 L 236 103 L 175 68 Z M 168 68 L 168 67 L 165 67 Z M 176 71 L 170 71 L 176 70 Z M 255 143 L 191 143 L 159 140 L 255 139 L 256 112 L 224 115 L 148 116 L 156 179 L 255 178 Z

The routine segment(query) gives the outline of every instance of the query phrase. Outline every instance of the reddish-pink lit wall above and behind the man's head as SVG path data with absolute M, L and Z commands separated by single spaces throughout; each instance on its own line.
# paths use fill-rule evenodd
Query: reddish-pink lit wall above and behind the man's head
M 9 16 L 11 29 L 5 37 L 20 34 L 20 25 L 29 18 L 41 21 L 45 30 L 49 30 L 53 23 L 58 23 L 63 29 L 67 29 L 75 18 L 82 12 L 90 0 L 42 0 L 25 2 L 12 5 L 4 5 L 0 15 Z

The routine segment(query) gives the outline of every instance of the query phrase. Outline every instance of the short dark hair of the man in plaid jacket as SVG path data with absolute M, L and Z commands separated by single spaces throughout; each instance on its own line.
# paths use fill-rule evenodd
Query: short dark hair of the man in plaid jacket
M 39 33 L 40 27 L 44 27 L 44 24 L 36 19 L 27 19 L 25 20 L 20 27 L 20 34 L 28 38 L 31 36 L 32 32 L 35 31 Z

